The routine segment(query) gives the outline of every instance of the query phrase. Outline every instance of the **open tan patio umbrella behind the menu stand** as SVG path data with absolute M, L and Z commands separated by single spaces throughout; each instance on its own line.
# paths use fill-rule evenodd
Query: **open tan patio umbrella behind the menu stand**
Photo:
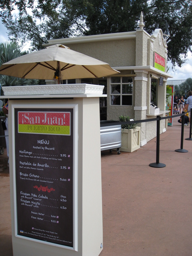
M 119 73 L 108 63 L 56 44 L 4 63 L 0 74 L 31 79 L 95 78 Z

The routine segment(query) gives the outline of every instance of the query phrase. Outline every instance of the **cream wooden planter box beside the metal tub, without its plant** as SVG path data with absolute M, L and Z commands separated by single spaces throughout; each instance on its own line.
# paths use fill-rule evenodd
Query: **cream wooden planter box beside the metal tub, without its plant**
M 137 126 L 134 129 L 121 129 L 121 144 L 120 151 L 133 152 L 140 148 L 141 128 Z

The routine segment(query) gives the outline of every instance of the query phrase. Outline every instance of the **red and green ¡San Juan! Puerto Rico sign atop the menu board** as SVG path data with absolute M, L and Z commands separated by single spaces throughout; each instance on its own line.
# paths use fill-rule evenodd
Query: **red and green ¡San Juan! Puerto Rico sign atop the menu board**
M 70 112 L 18 112 L 18 132 L 71 135 Z

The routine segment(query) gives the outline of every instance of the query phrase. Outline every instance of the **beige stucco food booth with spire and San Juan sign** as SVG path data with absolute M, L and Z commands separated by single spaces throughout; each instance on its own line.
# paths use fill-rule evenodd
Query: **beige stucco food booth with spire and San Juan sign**
M 103 93 L 107 94 L 107 98 L 100 98 L 101 120 L 118 120 L 120 115 L 130 116 L 134 120 L 165 116 L 167 78 L 172 77 L 166 73 L 166 38 L 159 28 L 149 35 L 143 27 L 141 12 L 139 29 L 133 32 L 61 38 L 43 44 L 45 47 L 66 45 L 74 51 L 107 62 L 120 72 L 110 77 L 63 82 L 104 85 Z M 152 83 L 156 84 L 155 102 L 151 92 Z M 159 112 L 154 112 L 151 102 L 159 108 Z M 156 137 L 156 121 L 142 122 L 140 126 L 140 146 L 143 146 Z M 160 133 L 165 131 L 165 120 L 161 120 Z

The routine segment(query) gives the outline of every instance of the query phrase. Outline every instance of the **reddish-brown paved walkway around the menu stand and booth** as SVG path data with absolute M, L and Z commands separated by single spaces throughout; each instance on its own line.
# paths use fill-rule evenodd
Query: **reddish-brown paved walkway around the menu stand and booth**
M 192 141 L 185 140 L 185 126 L 183 148 L 188 152 L 175 152 L 181 137 L 177 119 L 160 135 L 159 160 L 164 168 L 149 166 L 156 162 L 156 138 L 132 153 L 102 151 L 100 256 L 192 255 Z M 0 255 L 12 256 L 6 161 L 5 152 L 0 156 Z

